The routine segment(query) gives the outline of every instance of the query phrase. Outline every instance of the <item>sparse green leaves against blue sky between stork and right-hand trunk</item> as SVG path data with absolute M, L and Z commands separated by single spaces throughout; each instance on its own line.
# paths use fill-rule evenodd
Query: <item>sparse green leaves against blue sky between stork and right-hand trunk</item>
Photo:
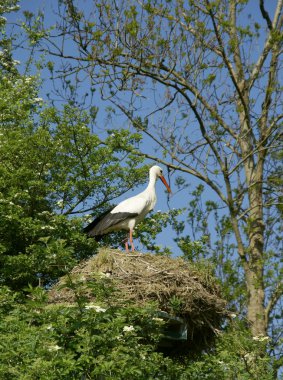
M 230 302 L 230 309 L 244 310 L 247 294 L 233 240 L 231 219 L 221 212 L 216 202 L 204 202 L 203 198 L 202 185 L 191 191 L 186 211 L 192 235 L 181 233 L 176 242 L 189 261 L 210 262 L 215 274 L 221 280 L 223 296 Z M 211 223 L 212 219 L 215 224 Z

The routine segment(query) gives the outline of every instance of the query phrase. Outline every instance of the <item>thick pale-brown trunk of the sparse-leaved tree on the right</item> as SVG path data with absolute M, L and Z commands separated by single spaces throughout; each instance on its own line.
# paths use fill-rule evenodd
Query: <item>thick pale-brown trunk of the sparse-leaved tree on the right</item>
M 255 136 L 249 119 L 249 94 L 241 86 L 242 100 L 238 107 L 246 107 L 240 112 L 240 147 L 244 159 L 246 184 L 248 188 L 247 234 L 249 245 L 246 252 L 245 276 L 248 292 L 247 318 L 251 324 L 253 336 L 266 335 L 264 281 L 263 281 L 263 248 L 264 223 L 262 208 L 262 181 L 264 154 L 256 153 Z

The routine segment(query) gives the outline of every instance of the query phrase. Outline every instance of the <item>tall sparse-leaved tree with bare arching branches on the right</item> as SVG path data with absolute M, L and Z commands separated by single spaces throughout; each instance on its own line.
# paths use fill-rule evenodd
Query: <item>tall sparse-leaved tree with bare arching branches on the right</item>
M 64 77 L 87 73 L 159 149 L 141 146 L 137 156 L 192 175 L 217 196 L 236 241 L 252 334 L 267 335 L 283 290 L 281 198 L 267 185 L 282 142 L 282 1 L 80 5 L 60 2 L 64 39 L 51 33 L 41 47 L 55 66 L 56 57 L 68 60 Z

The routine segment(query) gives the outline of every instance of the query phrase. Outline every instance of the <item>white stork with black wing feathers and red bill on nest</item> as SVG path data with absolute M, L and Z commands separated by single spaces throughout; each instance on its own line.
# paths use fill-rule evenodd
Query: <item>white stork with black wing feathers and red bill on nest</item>
M 155 183 L 160 178 L 169 193 L 171 189 L 162 174 L 162 169 L 155 165 L 149 170 L 149 183 L 147 188 L 134 197 L 125 199 L 116 207 L 100 215 L 84 228 L 84 231 L 92 237 L 100 237 L 112 231 L 129 231 L 129 240 L 132 251 L 135 250 L 133 243 L 133 230 L 144 219 L 146 214 L 153 210 L 156 204 Z M 129 251 L 128 237 L 125 241 L 126 251 Z

